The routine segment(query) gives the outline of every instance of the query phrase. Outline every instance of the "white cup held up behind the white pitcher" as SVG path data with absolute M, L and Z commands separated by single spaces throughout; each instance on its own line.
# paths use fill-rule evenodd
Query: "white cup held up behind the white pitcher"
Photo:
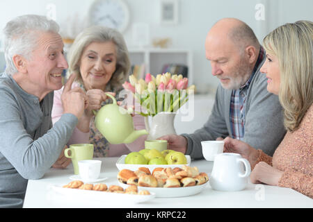
M 214 157 L 219 153 L 223 153 L 224 142 L 217 140 L 202 141 L 202 154 L 205 160 L 214 161 Z

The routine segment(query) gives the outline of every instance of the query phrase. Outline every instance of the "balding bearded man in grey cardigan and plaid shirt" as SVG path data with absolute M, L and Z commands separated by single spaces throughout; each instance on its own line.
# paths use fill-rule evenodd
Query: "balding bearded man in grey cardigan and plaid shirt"
M 207 34 L 205 56 L 212 75 L 220 80 L 209 119 L 192 134 L 160 139 L 168 140 L 169 149 L 193 159 L 203 158 L 201 141 L 225 137 L 273 155 L 286 130 L 278 96 L 267 92 L 266 75 L 259 71 L 265 51 L 255 33 L 239 19 L 220 19 Z

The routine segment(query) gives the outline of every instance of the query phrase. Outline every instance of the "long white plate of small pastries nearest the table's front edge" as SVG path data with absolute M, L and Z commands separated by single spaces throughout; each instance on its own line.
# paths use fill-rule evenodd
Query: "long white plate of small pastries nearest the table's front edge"
M 137 186 L 121 187 L 104 183 L 83 183 L 81 180 L 72 180 L 66 185 L 50 187 L 56 193 L 81 200 L 97 200 L 104 202 L 143 203 L 152 200 L 156 195 L 147 189 L 138 190 Z

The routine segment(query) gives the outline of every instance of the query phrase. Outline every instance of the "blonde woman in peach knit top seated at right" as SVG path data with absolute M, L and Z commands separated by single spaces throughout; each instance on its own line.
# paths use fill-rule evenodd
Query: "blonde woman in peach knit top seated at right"
M 313 23 L 284 24 L 266 35 L 268 92 L 284 108 L 287 134 L 273 157 L 227 137 L 225 152 L 240 153 L 253 169 L 251 182 L 289 187 L 313 198 Z

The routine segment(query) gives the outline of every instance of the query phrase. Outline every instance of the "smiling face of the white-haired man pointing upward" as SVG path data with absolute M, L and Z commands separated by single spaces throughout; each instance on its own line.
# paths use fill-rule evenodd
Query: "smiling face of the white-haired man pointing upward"
M 38 45 L 27 62 L 31 84 L 41 93 L 61 89 L 62 72 L 68 65 L 63 55 L 63 41 L 56 33 L 38 33 Z

